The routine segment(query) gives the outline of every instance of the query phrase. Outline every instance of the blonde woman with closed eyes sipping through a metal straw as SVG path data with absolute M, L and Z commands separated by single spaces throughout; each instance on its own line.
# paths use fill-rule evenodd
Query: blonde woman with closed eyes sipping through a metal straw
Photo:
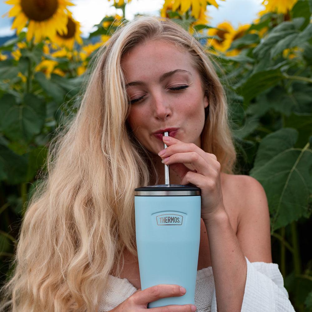
M 25 215 L 5 288 L 11 310 L 138 311 L 183 295 L 179 285 L 137 290 L 134 188 L 163 184 L 165 163 L 171 183 L 201 189 L 197 311 L 293 311 L 271 263 L 265 193 L 231 174 L 224 92 L 197 41 L 173 22 L 140 17 L 95 64 Z

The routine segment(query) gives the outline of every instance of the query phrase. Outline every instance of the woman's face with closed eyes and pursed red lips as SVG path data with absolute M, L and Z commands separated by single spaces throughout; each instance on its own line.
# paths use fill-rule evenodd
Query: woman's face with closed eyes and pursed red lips
M 163 132 L 200 146 L 208 106 L 192 56 L 164 41 L 147 41 L 121 61 L 130 99 L 128 122 L 150 152 L 163 149 Z

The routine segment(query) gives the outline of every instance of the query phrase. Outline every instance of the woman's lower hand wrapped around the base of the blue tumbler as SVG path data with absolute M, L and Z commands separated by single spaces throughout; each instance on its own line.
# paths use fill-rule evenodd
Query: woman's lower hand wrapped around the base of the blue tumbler
M 144 290 L 138 290 L 128 299 L 124 300 L 120 305 L 111 312 L 134 312 L 147 309 L 149 302 L 156 301 L 161 298 L 179 297 L 186 293 L 185 288 L 178 285 L 156 285 Z M 195 305 L 167 305 L 166 307 L 158 307 L 149 309 L 151 312 L 195 312 Z

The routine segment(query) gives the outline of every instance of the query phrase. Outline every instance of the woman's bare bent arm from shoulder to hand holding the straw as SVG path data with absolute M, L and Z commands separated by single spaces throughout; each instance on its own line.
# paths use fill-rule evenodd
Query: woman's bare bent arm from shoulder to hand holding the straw
M 178 174 L 181 184 L 192 183 L 201 189 L 218 311 L 241 311 L 247 277 L 245 256 L 251 261 L 271 262 L 270 220 L 263 188 L 251 177 L 233 175 L 222 180 L 215 155 L 194 144 L 168 137 L 163 141 L 168 146 L 159 153 L 163 162 Z M 194 170 L 183 165 L 187 163 Z M 222 190 L 227 192 L 225 200 Z M 237 218 L 237 231 L 228 212 Z

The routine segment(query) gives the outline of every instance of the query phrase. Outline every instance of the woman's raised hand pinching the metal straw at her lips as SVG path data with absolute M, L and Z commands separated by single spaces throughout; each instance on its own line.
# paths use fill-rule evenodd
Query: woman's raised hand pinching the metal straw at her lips
M 186 144 L 172 137 L 163 137 L 168 146 L 159 152 L 163 163 L 170 165 L 181 179 L 182 185 L 192 183 L 201 189 L 202 219 L 210 219 L 224 211 L 221 189 L 221 165 L 214 154 L 204 152 L 195 144 Z M 194 170 L 186 167 L 190 164 Z

